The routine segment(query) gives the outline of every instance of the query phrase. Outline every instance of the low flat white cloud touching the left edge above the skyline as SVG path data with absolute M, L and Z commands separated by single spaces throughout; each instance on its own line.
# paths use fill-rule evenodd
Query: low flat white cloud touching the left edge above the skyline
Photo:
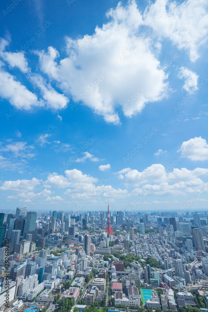
M 31 180 L 17 180 L 17 181 L 5 181 L 3 182 L 0 189 L 2 191 L 33 191 L 34 188 L 39 185 L 41 180 L 32 178 Z

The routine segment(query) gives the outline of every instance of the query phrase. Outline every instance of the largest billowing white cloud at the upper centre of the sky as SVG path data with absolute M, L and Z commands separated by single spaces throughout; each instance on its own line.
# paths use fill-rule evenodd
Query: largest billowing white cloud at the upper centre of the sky
M 59 53 L 51 46 L 46 53 L 36 53 L 41 70 L 56 80 L 65 94 L 83 101 L 107 122 L 119 124 L 118 103 L 125 116 L 141 112 L 146 103 L 167 95 L 167 75 L 151 38 L 143 36 L 143 19 L 135 1 L 125 8 L 119 2 L 107 17 L 109 22 L 96 27 L 91 36 L 67 37 L 68 57 L 59 64 Z

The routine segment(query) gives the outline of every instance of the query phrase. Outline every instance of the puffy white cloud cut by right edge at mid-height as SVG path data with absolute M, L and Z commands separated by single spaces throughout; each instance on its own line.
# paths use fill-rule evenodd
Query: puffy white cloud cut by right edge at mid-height
M 181 152 L 181 157 L 186 157 L 193 161 L 208 160 L 208 144 L 206 139 L 202 139 L 201 137 L 184 141 L 178 152 Z

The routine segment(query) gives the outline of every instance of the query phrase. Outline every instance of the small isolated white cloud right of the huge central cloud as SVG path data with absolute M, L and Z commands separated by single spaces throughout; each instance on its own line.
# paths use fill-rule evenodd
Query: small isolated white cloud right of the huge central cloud
M 190 71 L 186 67 L 181 67 L 178 72 L 178 77 L 180 79 L 185 78 L 183 89 L 186 90 L 188 94 L 194 94 L 197 90 L 199 90 L 197 86 L 199 76 L 197 76 L 193 71 Z

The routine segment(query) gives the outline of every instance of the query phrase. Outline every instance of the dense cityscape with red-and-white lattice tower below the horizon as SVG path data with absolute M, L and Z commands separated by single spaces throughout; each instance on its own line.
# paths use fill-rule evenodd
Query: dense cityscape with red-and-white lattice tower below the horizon
M 0 213 L 0 309 L 208 311 L 207 212 Z

